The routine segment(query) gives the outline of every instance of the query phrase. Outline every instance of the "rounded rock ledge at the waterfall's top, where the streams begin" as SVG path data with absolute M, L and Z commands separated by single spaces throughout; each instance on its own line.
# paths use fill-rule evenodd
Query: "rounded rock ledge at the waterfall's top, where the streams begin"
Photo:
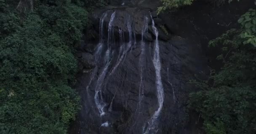
M 111 14 L 113 12 L 116 12 L 115 15 L 115 20 L 112 23 L 112 26 L 114 28 L 114 34 L 115 37 L 119 37 L 119 29 L 122 29 L 122 31 L 125 33 L 125 36 L 128 36 L 128 28 L 127 28 L 127 23 L 130 22 L 133 31 L 136 34 L 136 39 L 140 40 L 141 39 L 141 30 L 143 28 L 143 22 L 144 22 L 144 18 L 145 16 L 147 18 L 150 18 L 150 12 L 149 12 L 149 8 L 122 8 L 122 7 L 118 7 L 118 8 L 111 8 L 111 9 L 99 9 L 96 10 L 94 12 L 94 14 L 91 16 L 91 20 L 93 21 L 93 27 L 95 28 L 95 31 L 99 31 L 99 20 L 100 17 L 103 13 L 108 12 L 107 17 L 104 19 L 104 28 L 105 31 L 107 31 L 107 24 L 110 21 L 110 17 Z M 130 19 L 130 20 L 129 20 Z M 158 28 L 159 31 L 159 39 L 163 40 L 163 41 L 168 41 L 169 39 L 171 39 L 171 34 L 166 33 L 166 30 L 163 31 L 163 23 L 161 21 L 159 21 L 159 18 L 155 18 L 157 19 L 159 23 L 156 23 L 156 26 Z M 148 33 L 145 33 L 144 38 L 146 39 L 146 41 L 153 41 L 153 39 L 155 39 L 155 34 L 152 30 L 152 26 L 151 26 L 152 22 L 151 20 L 149 21 L 149 29 L 148 29 Z M 125 38 L 128 39 L 128 38 Z

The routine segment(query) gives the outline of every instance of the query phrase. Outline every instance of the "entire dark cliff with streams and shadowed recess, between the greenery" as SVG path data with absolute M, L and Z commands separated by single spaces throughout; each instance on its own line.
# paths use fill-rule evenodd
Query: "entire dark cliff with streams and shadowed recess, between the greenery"
M 198 1 L 157 16 L 157 0 L 112 0 L 96 10 L 77 53 L 82 108 L 70 134 L 197 133 L 197 119 L 186 114 L 196 89 L 187 82 L 205 77 L 215 63 L 207 42 L 236 27 L 250 6 L 236 4 L 210 8 Z

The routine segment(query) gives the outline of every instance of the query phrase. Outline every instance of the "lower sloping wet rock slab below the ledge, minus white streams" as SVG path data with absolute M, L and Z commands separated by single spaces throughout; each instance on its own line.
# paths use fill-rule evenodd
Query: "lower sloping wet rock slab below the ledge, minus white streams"
M 181 37 L 173 37 L 168 42 L 160 41 L 159 45 L 165 99 L 163 110 L 157 120 L 161 131 L 157 134 L 170 134 L 171 132 L 189 134 L 184 127 L 187 122 L 184 111 L 186 82 L 194 77 L 195 72 L 204 71 L 205 63 L 198 59 L 198 55 L 195 57 L 195 54 L 189 53 L 191 51 L 189 43 Z M 88 90 L 86 87 L 93 71 L 80 77 L 77 89 L 80 92 L 83 107 L 76 123 L 73 124 L 75 130 L 71 134 L 142 134 L 144 124 L 158 108 L 155 68 L 152 62 L 154 42 L 146 43 L 145 52 L 144 98 L 141 101 L 141 107 L 138 109 L 139 56 L 141 54 L 141 47 L 138 43 L 128 52 L 117 70 L 112 75 L 107 75 L 104 80 L 102 93 L 104 102 L 107 104 L 106 115 L 100 116 L 94 103 L 94 89 L 100 72 L 96 74 Z M 173 98 L 173 90 L 175 98 Z M 112 106 L 111 112 L 108 111 L 110 106 Z M 102 127 L 101 124 L 106 121 L 109 121 L 109 126 Z

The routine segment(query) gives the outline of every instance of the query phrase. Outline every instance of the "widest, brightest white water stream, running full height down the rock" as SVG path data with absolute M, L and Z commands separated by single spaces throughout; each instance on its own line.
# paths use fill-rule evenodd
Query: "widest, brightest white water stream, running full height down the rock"
M 157 100 L 158 100 L 159 108 L 157 109 L 157 111 L 155 111 L 152 118 L 147 122 L 147 127 L 146 127 L 146 125 L 143 127 L 143 134 L 148 134 L 150 131 L 154 131 L 156 129 L 156 127 L 157 127 L 156 119 L 160 115 L 160 112 L 163 108 L 163 101 L 164 101 L 164 91 L 163 91 L 163 84 L 162 84 L 162 80 L 161 80 L 161 62 L 160 62 L 160 56 L 159 56 L 158 30 L 155 27 L 155 22 L 154 22 L 151 14 L 150 14 L 150 16 L 152 19 L 152 28 L 153 28 L 153 31 L 156 36 L 153 64 L 155 67 L 155 74 L 156 74 L 155 83 L 156 83 L 156 88 L 157 88 Z M 157 130 L 155 130 L 155 131 L 157 131 Z

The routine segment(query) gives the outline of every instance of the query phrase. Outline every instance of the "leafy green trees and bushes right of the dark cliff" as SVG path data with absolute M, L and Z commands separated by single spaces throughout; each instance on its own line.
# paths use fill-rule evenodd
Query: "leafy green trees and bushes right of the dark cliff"
M 238 20 L 240 29 L 209 42 L 221 48 L 217 57 L 224 62 L 221 71 L 209 81 L 192 81 L 202 90 L 190 94 L 189 109 L 201 113 L 207 134 L 256 133 L 255 13 L 250 9 Z

